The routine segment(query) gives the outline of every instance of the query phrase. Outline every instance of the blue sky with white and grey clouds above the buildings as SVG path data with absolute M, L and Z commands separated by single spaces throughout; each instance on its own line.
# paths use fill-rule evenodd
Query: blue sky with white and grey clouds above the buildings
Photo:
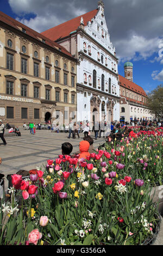
M 0 10 L 37 32 L 97 8 L 98 0 L 0 0 Z M 118 73 L 133 63 L 133 82 L 147 93 L 163 83 L 163 1 L 103 0 Z M 71 10 L 71 11 L 70 11 Z M 162 44 L 162 45 L 161 45 Z M 160 48 L 159 48 L 160 47 Z

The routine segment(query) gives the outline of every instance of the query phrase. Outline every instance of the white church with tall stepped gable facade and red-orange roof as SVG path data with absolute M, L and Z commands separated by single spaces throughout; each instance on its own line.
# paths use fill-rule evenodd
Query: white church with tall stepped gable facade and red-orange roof
M 42 32 L 77 58 L 77 121 L 120 120 L 118 59 L 104 16 L 98 8 Z

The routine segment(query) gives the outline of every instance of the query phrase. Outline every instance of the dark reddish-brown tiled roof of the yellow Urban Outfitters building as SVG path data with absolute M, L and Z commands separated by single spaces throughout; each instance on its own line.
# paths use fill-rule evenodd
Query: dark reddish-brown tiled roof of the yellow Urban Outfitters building
M 53 47 L 55 50 L 59 50 L 62 53 L 67 54 L 68 56 L 72 57 L 71 53 L 68 52 L 64 47 L 62 47 L 61 45 L 57 44 L 57 42 L 54 42 L 52 40 L 50 40 L 49 38 L 46 38 L 45 35 L 42 35 L 36 31 L 34 31 L 33 29 L 23 25 L 21 22 L 11 18 L 10 16 L 8 16 L 7 14 L 4 14 L 2 11 L 0 11 L 0 21 L 2 21 L 3 23 L 17 29 L 18 31 L 22 31 L 22 28 L 26 31 L 26 34 L 31 36 L 32 38 L 42 42 L 42 39 L 45 40 L 45 45 L 48 45 L 50 47 Z M 22 32 L 23 33 L 23 32 Z

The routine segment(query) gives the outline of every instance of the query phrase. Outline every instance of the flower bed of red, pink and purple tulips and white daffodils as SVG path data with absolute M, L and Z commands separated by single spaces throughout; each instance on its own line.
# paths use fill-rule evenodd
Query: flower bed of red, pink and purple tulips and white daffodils
M 0 244 L 150 242 L 160 217 L 149 194 L 162 180 L 162 137 L 153 137 L 105 144 L 86 160 L 59 155 L 30 179 L 12 175 L 11 202 L 1 204 Z

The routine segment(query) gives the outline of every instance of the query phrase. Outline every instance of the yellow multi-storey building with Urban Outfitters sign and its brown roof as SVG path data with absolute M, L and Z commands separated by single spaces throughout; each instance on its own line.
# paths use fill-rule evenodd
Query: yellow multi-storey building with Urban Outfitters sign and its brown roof
M 0 119 L 11 125 L 69 123 L 77 110 L 76 59 L 7 17 L 0 18 Z

